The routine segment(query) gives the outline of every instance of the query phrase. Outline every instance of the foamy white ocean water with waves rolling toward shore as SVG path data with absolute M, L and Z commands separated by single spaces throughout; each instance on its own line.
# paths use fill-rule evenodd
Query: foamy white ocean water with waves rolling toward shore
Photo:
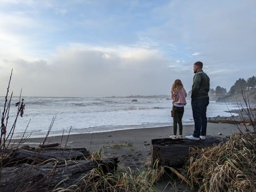
M 134 128 L 172 126 L 170 115 L 172 100 L 166 98 L 131 98 L 131 97 L 22 97 L 25 112 L 19 116 L 14 130 L 14 137 L 19 138 L 27 128 L 26 135 L 44 137 L 55 118 L 50 136 L 75 133 L 108 132 Z M 132 102 L 137 99 L 138 102 Z M 4 97 L 0 97 L 1 115 Z M 17 114 L 15 103 L 11 101 L 7 131 Z M 187 100 L 183 115 L 183 124 L 193 124 L 190 101 Z M 238 108 L 236 104 L 211 101 L 207 116 L 230 116 L 228 110 Z M 29 123 L 29 124 L 28 124 Z

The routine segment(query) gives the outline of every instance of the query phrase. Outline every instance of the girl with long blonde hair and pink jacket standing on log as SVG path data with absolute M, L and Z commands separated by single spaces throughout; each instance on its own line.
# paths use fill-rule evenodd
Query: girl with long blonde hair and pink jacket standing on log
M 173 82 L 172 90 L 172 116 L 173 116 L 173 136 L 170 136 L 172 139 L 182 139 L 182 116 L 184 113 L 184 106 L 187 104 L 186 90 L 183 88 L 183 84 L 180 79 L 176 79 Z M 177 123 L 179 124 L 179 136 L 177 137 Z

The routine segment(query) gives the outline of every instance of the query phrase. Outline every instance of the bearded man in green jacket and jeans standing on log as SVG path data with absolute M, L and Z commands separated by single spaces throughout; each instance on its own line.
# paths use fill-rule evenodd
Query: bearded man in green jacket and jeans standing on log
M 209 105 L 210 79 L 202 69 L 203 63 L 201 61 L 194 63 L 195 76 L 193 78 L 191 106 L 195 129 L 193 135 L 186 136 L 190 140 L 205 140 L 206 136 L 206 108 Z

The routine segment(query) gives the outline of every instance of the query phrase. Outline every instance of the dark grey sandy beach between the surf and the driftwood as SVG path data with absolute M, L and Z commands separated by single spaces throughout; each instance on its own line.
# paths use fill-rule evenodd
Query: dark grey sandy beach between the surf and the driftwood
M 183 126 L 183 136 L 193 133 L 193 125 Z M 233 124 L 208 123 L 207 135 L 228 137 L 237 132 Z M 167 138 L 173 133 L 173 127 L 141 128 L 122 131 L 81 133 L 77 135 L 49 137 L 45 144 L 61 143 L 61 147 L 86 148 L 88 151 L 97 152 L 103 149 L 106 157 L 118 157 L 119 167 L 128 166 L 134 169 L 145 169 L 150 165 L 151 139 Z M 219 135 L 221 133 L 221 135 Z M 68 139 L 68 140 L 67 140 Z M 37 147 L 43 138 L 30 138 L 25 145 Z

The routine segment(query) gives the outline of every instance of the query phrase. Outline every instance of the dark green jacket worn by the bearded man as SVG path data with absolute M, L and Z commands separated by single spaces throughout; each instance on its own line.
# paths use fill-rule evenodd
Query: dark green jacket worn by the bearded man
M 198 71 L 193 78 L 191 99 L 209 97 L 210 78 L 203 70 Z

